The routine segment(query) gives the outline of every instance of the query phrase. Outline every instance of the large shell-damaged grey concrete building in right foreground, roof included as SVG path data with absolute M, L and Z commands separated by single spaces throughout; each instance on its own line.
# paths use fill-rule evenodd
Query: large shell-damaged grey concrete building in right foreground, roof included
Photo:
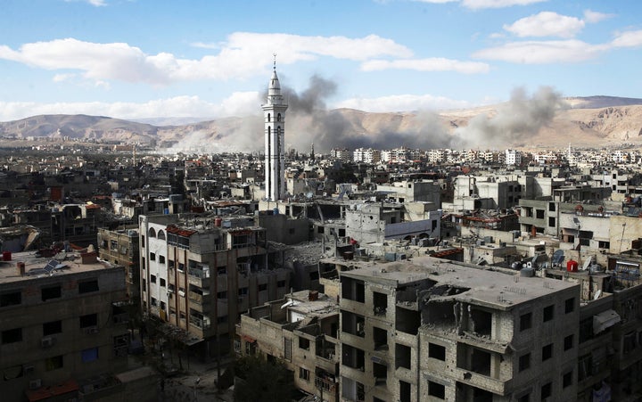
M 344 400 L 575 397 L 577 285 L 430 257 L 344 265 Z

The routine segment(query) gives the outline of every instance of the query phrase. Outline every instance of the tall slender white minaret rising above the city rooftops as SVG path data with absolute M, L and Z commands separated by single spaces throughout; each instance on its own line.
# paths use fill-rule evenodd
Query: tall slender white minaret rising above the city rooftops
M 276 54 L 268 87 L 268 103 L 261 105 L 265 118 L 265 184 L 268 201 L 285 196 L 285 111 L 287 104 L 276 76 Z

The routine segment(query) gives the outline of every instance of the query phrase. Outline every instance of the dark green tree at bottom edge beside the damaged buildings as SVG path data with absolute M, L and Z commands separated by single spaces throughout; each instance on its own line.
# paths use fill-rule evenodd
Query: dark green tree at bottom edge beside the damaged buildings
M 235 361 L 235 375 L 243 385 L 235 385 L 235 401 L 289 401 L 296 388 L 292 372 L 284 364 L 268 362 L 258 356 L 244 356 Z

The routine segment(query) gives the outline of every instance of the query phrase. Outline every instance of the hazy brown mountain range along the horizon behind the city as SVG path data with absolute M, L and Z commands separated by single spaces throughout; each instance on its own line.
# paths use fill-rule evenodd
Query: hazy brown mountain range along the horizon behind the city
M 86 115 L 40 115 L 0 122 L 3 143 L 78 139 L 146 144 L 186 152 L 252 152 L 263 147 L 262 116 L 206 119 L 167 125 Z M 183 119 L 182 121 L 185 121 Z M 160 125 L 153 124 L 159 122 Z M 372 113 L 303 110 L 291 105 L 286 146 L 308 152 L 341 147 L 565 148 L 642 146 L 642 99 L 614 96 L 517 96 L 507 103 L 457 111 Z

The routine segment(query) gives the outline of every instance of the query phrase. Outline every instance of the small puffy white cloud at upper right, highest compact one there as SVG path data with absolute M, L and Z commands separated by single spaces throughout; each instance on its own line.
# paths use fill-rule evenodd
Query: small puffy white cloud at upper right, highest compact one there
M 518 37 L 574 37 L 583 28 L 584 21 L 556 12 L 539 12 L 504 26 Z

